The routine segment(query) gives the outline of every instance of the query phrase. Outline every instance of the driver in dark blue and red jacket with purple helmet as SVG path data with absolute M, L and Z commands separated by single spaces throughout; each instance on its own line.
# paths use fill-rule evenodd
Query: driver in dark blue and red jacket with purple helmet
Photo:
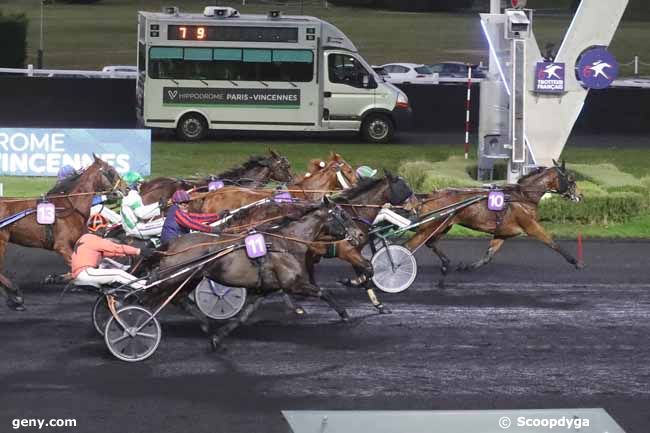
M 227 212 L 216 213 L 192 213 L 189 212 L 190 194 L 179 189 L 172 196 L 172 206 L 167 211 L 165 224 L 163 226 L 160 241 L 166 245 L 178 236 L 189 233 L 191 230 L 203 233 L 221 233 L 220 227 L 210 227 L 206 224 L 212 224 L 220 220 Z

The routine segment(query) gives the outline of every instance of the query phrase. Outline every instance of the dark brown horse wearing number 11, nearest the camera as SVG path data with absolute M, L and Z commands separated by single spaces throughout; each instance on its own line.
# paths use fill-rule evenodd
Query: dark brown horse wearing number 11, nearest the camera
M 244 287 L 250 295 L 248 304 L 239 315 L 230 319 L 212 336 L 214 348 L 253 314 L 263 297 L 277 291 L 320 298 L 327 302 L 341 319 L 349 318 L 347 311 L 330 294 L 309 282 L 305 254 L 323 229 L 338 239 L 345 238 L 353 245 L 360 243 L 362 233 L 341 207 L 326 198 L 322 204 L 311 204 L 304 208 L 305 213 L 298 220 L 285 218 L 279 223 L 273 222 L 258 227 L 258 232 L 264 234 L 265 241 L 269 244 L 268 252 L 263 258 L 250 259 L 246 251 L 240 248 L 212 261 L 203 269 L 201 276 L 225 286 Z M 167 248 L 160 261 L 160 272 L 164 273 L 164 269 L 174 269 L 179 264 L 216 253 L 224 245 L 230 244 L 229 239 L 232 244 L 241 243 L 241 238 L 242 235 L 215 237 L 200 233 L 182 236 Z M 163 292 L 173 290 L 178 283 L 178 279 L 165 282 Z M 157 296 L 160 296 L 160 293 Z

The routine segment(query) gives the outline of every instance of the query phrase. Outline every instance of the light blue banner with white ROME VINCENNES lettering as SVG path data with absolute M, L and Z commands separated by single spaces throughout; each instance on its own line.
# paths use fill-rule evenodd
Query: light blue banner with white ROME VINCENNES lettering
M 56 176 L 90 165 L 93 153 L 120 173 L 151 174 L 148 129 L 0 128 L 0 175 Z

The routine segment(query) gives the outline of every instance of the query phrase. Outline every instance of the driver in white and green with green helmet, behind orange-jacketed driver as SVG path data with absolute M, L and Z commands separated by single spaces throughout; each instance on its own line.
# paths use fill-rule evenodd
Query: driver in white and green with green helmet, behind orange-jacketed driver
M 122 176 L 122 179 L 129 185 L 128 194 L 122 199 L 122 227 L 127 236 L 138 239 L 151 239 L 160 236 L 162 226 L 165 223 L 161 216 L 158 203 L 145 205 L 140 197 L 140 184 L 143 177 L 134 171 Z

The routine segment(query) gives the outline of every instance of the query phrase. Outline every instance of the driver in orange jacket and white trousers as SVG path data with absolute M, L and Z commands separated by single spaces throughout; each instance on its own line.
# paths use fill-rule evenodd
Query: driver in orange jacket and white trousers
M 107 225 L 102 218 L 95 218 L 88 228 L 91 233 L 81 236 L 74 245 L 71 273 L 78 285 L 102 286 L 106 284 L 129 284 L 133 289 L 144 287 L 143 281 L 121 269 L 100 269 L 105 257 L 141 256 L 149 258 L 154 250 L 151 248 L 134 248 L 104 239 Z

